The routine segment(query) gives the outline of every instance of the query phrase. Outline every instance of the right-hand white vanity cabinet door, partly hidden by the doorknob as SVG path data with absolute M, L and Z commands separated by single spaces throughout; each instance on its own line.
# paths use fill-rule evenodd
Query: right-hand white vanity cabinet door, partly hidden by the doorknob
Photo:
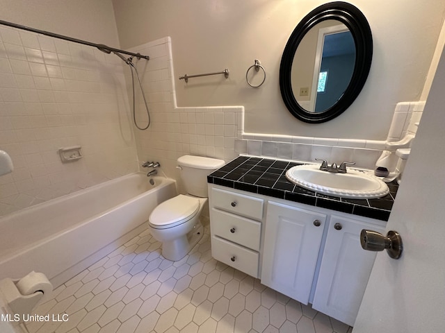
M 359 238 L 362 229 L 381 233 L 385 230 L 380 225 L 331 217 L 312 304 L 314 309 L 351 326 L 376 255 L 362 249 Z

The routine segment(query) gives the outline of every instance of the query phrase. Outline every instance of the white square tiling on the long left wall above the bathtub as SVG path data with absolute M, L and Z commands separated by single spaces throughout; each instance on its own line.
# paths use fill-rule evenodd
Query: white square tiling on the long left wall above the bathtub
M 122 64 L 99 67 L 87 46 L 10 28 L 0 34 L 8 57 L 0 73 L 9 75 L 0 83 L 0 141 L 15 165 L 8 189 L 0 189 L 0 216 L 136 171 L 128 99 L 115 97 L 127 93 L 119 79 Z M 80 52 L 76 62 L 74 51 Z M 65 86 L 63 78 L 83 81 Z M 62 164 L 57 149 L 76 144 L 85 148 L 83 160 Z M 112 161 L 107 168 L 104 160 Z

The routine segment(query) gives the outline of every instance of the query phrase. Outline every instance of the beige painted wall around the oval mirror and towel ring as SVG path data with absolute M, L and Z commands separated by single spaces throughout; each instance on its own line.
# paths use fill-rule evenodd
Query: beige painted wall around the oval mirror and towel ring
M 244 105 L 245 131 L 307 137 L 384 140 L 396 103 L 418 101 L 444 18 L 445 2 L 349 1 L 367 17 L 374 54 L 359 98 L 340 117 L 309 125 L 286 110 L 278 71 L 296 24 L 326 1 L 113 0 L 122 47 L 172 37 L 176 76 L 220 71 L 223 76 L 177 78 L 179 106 Z M 245 71 L 254 59 L 268 73 L 253 89 Z

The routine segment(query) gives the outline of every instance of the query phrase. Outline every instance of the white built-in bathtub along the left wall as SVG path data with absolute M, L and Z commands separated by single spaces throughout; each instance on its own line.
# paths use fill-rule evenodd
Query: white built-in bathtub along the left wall
M 175 180 L 132 173 L 4 216 L 0 279 L 38 271 L 57 287 L 145 230 L 176 195 Z

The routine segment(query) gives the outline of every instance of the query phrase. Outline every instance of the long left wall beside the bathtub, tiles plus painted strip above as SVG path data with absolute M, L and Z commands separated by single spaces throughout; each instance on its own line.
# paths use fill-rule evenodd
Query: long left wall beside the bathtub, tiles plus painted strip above
M 0 0 L 0 19 L 118 45 L 111 1 Z M 138 170 L 122 60 L 0 26 L 0 216 Z M 63 164 L 58 148 L 82 146 Z

